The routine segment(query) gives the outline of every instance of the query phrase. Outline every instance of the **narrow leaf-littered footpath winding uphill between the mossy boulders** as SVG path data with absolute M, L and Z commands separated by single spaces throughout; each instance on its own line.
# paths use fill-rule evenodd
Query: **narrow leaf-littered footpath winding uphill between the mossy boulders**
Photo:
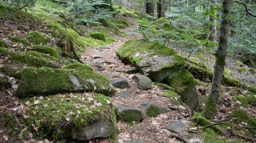
M 115 96 L 111 97 L 113 103 L 116 106 L 123 105 L 140 109 L 140 111 L 143 112 L 143 121 L 140 124 L 118 122 L 117 127 L 121 133 L 118 134 L 116 142 L 179 142 L 178 140 L 169 137 L 171 134 L 176 133 L 168 131 L 167 127 L 175 120 L 190 117 L 190 112 L 184 110 L 182 107 L 177 107 L 178 110 L 176 111 L 169 110 L 169 112 L 165 112 L 157 117 L 147 117 L 140 104 L 152 102 L 165 111 L 167 111 L 166 109 L 168 109 L 168 106 L 174 105 L 171 104 L 172 101 L 170 98 L 161 96 L 163 90 L 158 88 L 157 85 L 153 85 L 151 90 L 140 90 L 136 80 L 133 78 L 135 74 L 140 73 L 126 74 L 124 71 L 134 69 L 134 67 L 125 65 L 116 55 L 116 50 L 118 47 L 121 47 L 124 42 L 130 39 L 141 38 L 138 34 L 135 34 L 137 36 L 131 34 L 133 29 L 138 26 L 135 19 L 128 18 L 127 20 L 129 23 L 132 23 L 132 25 L 123 29 L 124 34 L 115 37 L 116 42 L 113 42 L 113 44 L 108 47 L 89 47 L 87 48 L 86 53 L 83 53 L 80 60 L 83 61 L 83 63 L 94 67 L 94 71 L 99 74 L 104 74 L 109 77 L 110 81 L 127 80 L 129 82 L 129 88 L 115 88 Z M 128 91 L 132 95 L 128 98 L 118 97 L 117 95 L 121 91 Z M 188 126 L 189 123 L 185 123 L 185 128 L 188 128 Z M 181 136 L 187 136 L 187 131 Z M 184 139 L 186 138 L 187 137 Z

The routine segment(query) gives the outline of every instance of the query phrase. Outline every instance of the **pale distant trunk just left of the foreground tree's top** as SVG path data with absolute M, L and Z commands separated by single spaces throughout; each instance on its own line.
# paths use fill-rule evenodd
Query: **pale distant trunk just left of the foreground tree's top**
M 211 34 L 209 36 L 209 40 L 211 42 L 217 42 L 217 0 L 212 0 L 211 1 L 211 14 L 210 14 L 210 26 L 209 26 L 209 31 L 211 31 Z M 213 12 L 213 13 L 212 13 Z

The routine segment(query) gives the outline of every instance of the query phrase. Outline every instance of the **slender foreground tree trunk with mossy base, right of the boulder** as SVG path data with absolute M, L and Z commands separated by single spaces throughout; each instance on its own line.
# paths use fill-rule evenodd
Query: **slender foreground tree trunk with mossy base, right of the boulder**
M 227 53 L 231 1 L 232 0 L 223 0 L 222 2 L 222 18 L 219 26 L 219 44 L 215 53 L 214 77 L 211 82 L 211 92 L 206 99 L 206 106 L 203 109 L 203 115 L 208 119 L 214 119 L 216 114 L 216 106 L 225 66 L 225 56 Z

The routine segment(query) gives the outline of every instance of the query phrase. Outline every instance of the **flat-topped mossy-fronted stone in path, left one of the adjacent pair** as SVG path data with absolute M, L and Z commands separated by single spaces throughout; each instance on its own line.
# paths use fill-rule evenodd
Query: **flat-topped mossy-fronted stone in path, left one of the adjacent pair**
M 142 112 L 139 109 L 133 109 L 131 107 L 118 106 L 118 113 L 121 121 L 132 123 L 140 122 L 142 120 Z

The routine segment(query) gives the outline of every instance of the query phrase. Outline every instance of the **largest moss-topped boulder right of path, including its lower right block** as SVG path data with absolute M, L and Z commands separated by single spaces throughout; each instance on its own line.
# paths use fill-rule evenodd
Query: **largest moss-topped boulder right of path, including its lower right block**
M 167 83 L 173 88 L 176 88 L 175 90 L 181 96 L 182 101 L 189 105 L 191 109 L 199 109 L 194 78 L 192 74 L 184 69 L 187 63 L 175 51 L 158 42 L 139 39 L 125 42 L 117 50 L 116 54 L 124 63 L 134 65 L 153 82 Z M 182 73 L 186 74 L 189 79 L 182 77 Z M 174 80 L 186 81 L 182 82 L 181 85 L 173 83 L 172 81 Z

